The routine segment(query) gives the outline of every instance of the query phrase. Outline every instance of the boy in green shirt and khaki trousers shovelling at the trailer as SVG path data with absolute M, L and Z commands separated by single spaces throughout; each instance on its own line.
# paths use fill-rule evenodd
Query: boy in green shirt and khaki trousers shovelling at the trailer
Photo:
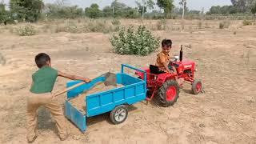
M 51 67 L 50 56 L 40 53 L 35 57 L 35 63 L 39 70 L 32 75 L 32 85 L 30 95 L 27 97 L 27 141 L 34 142 L 37 138 L 37 110 L 39 106 L 46 106 L 52 114 L 58 129 L 59 138 L 63 141 L 68 137 L 66 120 L 62 112 L 62 106 L 54 100 L 51 91 L 58 76 L 69 78 L 71 80 L 82 80 L 90 82 L 89 78 L 82 78 L 75 75 L 64 74 Z

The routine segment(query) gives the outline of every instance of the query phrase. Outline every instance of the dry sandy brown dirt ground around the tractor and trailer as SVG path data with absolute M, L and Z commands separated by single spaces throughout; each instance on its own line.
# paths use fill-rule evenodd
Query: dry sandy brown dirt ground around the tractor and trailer
M 89 118 L 84 134 L 67 121 L 71 134 L 65 142 L 59 140 L 50 113 L 40 108 L 34 143 L 256 143 L 256 26 L 237 26 L 235 31 L 154 31 L 173 40 L 172 55 L 182 44 L 191 47 L 183 55 L 197 62 L 196 78 L 202 79 L 205 94 L 190 94 L 186 85 L 174 106 L 140 102 L 130 106 L 120 125 L 111 124 L 108 114 Z M 121 63 L 148 66 L 160 50 L 146 57 L 113 54 L 109 38 L 102 33 L 1 33 L 0 143 L 26 143 L 26 95 L 37 70 L 35 54 L 50 54 L 58 70 L 94 78 L 119 71 Z M 67 81 L 58 78 L 54 90 L 65 88 Z M 58 98 L 62 105 L 65 100 L 65 94 Z

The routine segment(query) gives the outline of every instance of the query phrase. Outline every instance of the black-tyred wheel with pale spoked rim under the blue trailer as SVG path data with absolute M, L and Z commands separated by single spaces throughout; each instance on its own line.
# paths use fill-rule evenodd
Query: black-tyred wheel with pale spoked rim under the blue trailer
M 110 120 L 115 125 L 125 122 L 128 116 L 128 109 L 124 105 L 116 106 L 110 113 Z

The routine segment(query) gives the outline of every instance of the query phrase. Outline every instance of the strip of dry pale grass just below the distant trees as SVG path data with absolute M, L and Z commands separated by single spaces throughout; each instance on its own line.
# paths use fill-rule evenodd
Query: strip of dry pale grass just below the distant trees
M 150 30 L 167 30 L 167 31 L 196 31 L 202 29 L 226 29 L 231 27 L 231 23 L 234 23 L 233 27 L 241 27 L 243 25 L 253 25 L 254 21 L 218 21 L 218 20 L 180 20 L 180 19 L 162 19 L 162 20 L 144 20 L 140 19 L 90 19 L 90 18 L 78 18 L 78 19 L 55 19 L 40 21 L 31 24 L 37 34 L 54 34 L 54 33 L 111 33 L 119 30 L 121 26 L 133 25 L 135 28 L 144 25 Z M 0 32 L 8 32 L 16 34 L 16 31 L 21 29 L 19 27 L 26 26 L 26 23 L 18 23 L 17 25 L 0 26 Z

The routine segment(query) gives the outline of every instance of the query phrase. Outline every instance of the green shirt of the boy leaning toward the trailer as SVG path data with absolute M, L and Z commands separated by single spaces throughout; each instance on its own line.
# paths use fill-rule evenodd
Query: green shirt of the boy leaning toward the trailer
M 54 89 L 58 71 L 50 66 L 43 66 L 32 75 L 33 84 L 30 92 L 34 94 L 49 93 Z

